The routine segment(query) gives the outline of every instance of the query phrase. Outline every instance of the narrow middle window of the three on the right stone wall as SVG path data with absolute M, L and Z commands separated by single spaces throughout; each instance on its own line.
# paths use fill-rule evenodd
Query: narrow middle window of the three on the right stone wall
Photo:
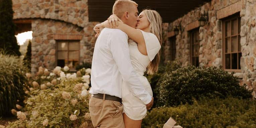
M 190 31 L 190 61 L 195 67 L 199 67 L 199 29 Z

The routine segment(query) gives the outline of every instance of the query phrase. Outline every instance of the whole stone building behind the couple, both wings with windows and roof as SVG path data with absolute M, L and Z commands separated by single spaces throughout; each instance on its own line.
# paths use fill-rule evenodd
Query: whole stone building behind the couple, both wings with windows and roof
M 17 33 L 32 30 L 32 69 L 91 62 L 93 27 L 115 0 L 12 0 Z M 162 56 L 236 72 L 256 97 L 256 0 L 134 0 L 163 18 Z

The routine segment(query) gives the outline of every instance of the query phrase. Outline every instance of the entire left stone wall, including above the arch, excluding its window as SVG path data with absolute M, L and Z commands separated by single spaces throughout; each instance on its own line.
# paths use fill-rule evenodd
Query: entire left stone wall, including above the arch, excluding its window
M 91 62 L 94 44 L 87 0 L 12 0 L 14 20 L 31 20 L 32 68 L 57 66 L 56 40 L 80 40 L 80 63 Z M 25 28 L 24 28 L 25 29 Z

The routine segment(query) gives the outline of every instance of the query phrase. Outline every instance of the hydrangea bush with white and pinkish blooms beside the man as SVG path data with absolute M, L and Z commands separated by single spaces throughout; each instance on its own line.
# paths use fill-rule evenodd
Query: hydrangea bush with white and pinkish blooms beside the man
M 11 112 L 19 120 L 7 128 L 85 128 L 91 127 L 89 88 L 91 69 L 70 73 L 68 67 L 56 67 L 53 72 L 39 67 L 35 77 L 27 73 L 32 87 L 24 108 L 16 105 Z

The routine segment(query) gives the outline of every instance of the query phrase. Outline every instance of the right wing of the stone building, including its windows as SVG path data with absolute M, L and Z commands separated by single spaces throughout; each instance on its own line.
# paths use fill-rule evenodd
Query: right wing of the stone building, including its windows
M 255 19 L 256 0 L 211 0 L 164 25 L 165 61 L 221 66 L 256 98 Z

